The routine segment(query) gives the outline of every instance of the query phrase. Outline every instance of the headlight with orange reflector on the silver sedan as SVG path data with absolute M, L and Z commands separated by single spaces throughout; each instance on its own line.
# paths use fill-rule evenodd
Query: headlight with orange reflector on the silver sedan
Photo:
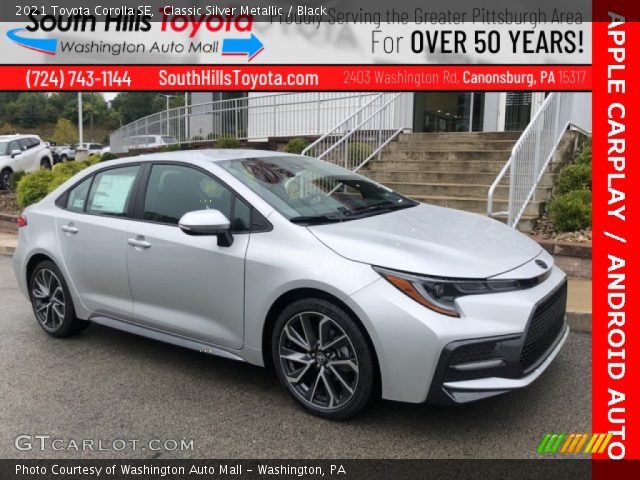
M 434 312 L 459 317 L 456 299 L 466 295 L 510 292 L 537 285 L 541 278 L 531 280 L 461 279 L 415 275 L 381 267 L 373 269 L 391 285 Z

